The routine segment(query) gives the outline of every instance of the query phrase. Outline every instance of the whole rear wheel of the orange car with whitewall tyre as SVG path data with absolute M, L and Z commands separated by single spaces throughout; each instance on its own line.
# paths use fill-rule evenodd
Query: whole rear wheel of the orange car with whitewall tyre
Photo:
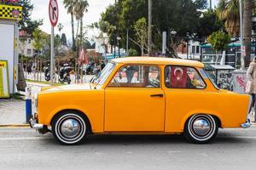
M 189 117 L 184 127 L 186 139 L 195 144 L 207 144 L 216 137 L 218 122 L 211 115 L 194 115 Z

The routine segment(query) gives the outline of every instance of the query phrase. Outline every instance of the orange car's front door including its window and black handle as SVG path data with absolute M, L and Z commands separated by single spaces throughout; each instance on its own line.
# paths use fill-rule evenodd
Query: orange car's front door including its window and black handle
M 165 95 L 156 65 L 125 65 L 105 89 L 106 132 L 161 132 Z

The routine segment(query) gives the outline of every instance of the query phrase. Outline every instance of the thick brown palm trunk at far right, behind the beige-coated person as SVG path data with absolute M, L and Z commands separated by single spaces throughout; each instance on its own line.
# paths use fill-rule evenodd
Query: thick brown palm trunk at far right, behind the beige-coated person
M 253 29 L 253 0 L 244 0 L 243 4 L 243 28 L 244 28 L 244 46 L 246 48 L 245 63 L 246 67 L 250 64 L 251 58 L 251 37 Z

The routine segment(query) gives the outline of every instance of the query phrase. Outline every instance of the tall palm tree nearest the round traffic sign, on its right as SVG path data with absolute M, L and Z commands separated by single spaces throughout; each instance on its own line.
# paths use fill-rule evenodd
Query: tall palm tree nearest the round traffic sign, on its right
M 75 38 L 74 38 L 74 26 L 73 26 L 73 8 L 75 0 L 64 0 L 63 1 L 65 8 L 67 8 L 67 14 L 71 14 L 71 26 L 72 26 L 72 40 L 73 40 L 73 50 L 75 51 L 76 45 L 75 45 Z

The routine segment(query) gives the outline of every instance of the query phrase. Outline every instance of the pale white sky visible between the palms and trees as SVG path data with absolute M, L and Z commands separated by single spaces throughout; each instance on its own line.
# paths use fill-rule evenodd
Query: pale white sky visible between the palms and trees
M 178 1 L 178 0 L 177 0 Z M 209 1 L 209 0 L 208 0 Z M 32 11 L 32 19 L 33 20 L 44 20 L 44 25 L 40 28 L 50 33 L 50 23 L 49 23 L 49 14 L 48 14 L 48 5 L 49 0 L 31 0 L 32 4 L 34 5 L 34 9 Z M 59 3 L 59 11 L 60 17 L 59 22 L 61 23 L 64 28 L 61 33 L 65 33 L 67 35 L 67 40 L 71 40 L 71 17 L 70 14 L 67 14 L 67 10 L 63 6 L 63 0 L 58 0 Z M 91 23 L 97 22 L 101 18 L 102 12 L 105 11 L 110 4 L 114 3 L 114 0 L 88 0 L 89 8 L 88 13 L 84 15 L 84 26 L 90 25 Z M 212 0 L 212 7 L 216 6 L 218 0 Z M 76 25 L 76 24 L 75 24 Z M 76 30 L 75 30 L 76 31 Z M 55 29 L 55 34 L 59 33 L 57 29 Z M 89 31 L 88 37 L 97 36 L 98 34 L 96 31 Z

